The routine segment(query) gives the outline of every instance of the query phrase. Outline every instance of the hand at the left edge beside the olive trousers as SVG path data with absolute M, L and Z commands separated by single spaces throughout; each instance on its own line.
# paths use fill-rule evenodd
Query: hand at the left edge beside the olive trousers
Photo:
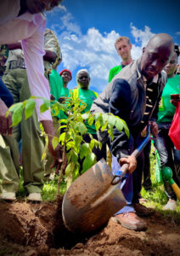
M 6 104 L 0 99 L 0 134 L 6 135 L 8 132 L 8 136 L 12 134 L 12 116 L 11 113 L 8 114 L 6 118 L 6 113 L 8 111 L 8 107 Z

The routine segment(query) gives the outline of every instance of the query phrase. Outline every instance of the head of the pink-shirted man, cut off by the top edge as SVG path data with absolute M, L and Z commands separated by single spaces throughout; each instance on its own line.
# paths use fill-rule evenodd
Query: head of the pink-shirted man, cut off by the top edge
M 51 10 L 61 2 L 62 0 L 25 0 L 26 8 L 32 15 Z

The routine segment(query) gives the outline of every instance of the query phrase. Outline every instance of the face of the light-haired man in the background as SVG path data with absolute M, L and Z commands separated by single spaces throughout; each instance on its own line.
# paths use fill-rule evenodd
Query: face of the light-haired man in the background
M 127 61 L 131 57 L 132 44 L 128 44 L 126 39 L 117 42 L 115 48 L 122 61 Z

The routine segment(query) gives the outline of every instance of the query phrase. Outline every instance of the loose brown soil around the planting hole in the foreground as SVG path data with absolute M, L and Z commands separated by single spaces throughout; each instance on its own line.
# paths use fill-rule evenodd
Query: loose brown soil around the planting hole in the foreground
M 61 201 L 0 202 L 0 255 L 180 255 L 180 226 L 159 212 L 136 232 L 112 220 L 89 236 L 65 229 Z

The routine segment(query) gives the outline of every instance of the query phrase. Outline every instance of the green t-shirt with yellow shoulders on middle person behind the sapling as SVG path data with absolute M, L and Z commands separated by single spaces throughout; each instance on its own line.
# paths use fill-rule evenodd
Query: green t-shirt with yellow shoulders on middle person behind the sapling
M 78 90 L 78 94 L 75 93 L 75 90 Z M 73 96 L 74 95 L 74 96 Z M 87 104 L 87 108 L 83 110 L 83 113 L 90 110 L 93 101 L 97 99 L 98 94 L 93 90 L 83 90 L 81 88 L 72 90 L 72 96 L 75 98 L 75 95 L 79 97 L 80 100 Z M 87 126 L 87 132 L 91 134 L 96 134 L 96 128 L 94 125 L 88 125 L 87 122 L 85 123 Z

